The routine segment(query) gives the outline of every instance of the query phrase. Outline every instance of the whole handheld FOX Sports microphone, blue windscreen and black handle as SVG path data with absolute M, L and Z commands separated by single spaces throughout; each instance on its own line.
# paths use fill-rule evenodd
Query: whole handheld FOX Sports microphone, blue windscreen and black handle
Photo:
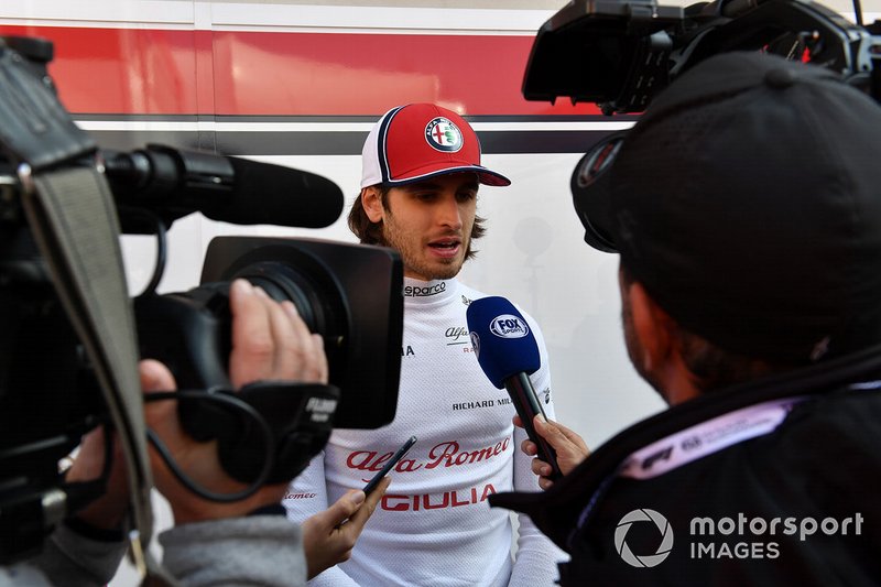
M 537 414 L 546 416 L 535 396 L 529 376 L 542 365 L 539 345 L 525 318 L 504 297 L 475 300 L 466 312 L 471 345 L 483 373 L 498 389 L 508 390 L 530 441 L 539 447 L 537 457 L 551 465 L 547 477 L 563 476 L 556 452 L 535 432 L 532 421 Z

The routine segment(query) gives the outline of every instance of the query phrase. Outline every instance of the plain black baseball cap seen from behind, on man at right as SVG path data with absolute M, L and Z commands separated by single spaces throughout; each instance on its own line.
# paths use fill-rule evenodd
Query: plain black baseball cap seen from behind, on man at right
M 788 363 L 881 343 L 881 106 L 836 73 L 710 57 L 653 100 L 595 183 L 610 198 L 597 248 L 611 242 L 688 330 Z M 589 188 L 574 180 L 576 208 Z

